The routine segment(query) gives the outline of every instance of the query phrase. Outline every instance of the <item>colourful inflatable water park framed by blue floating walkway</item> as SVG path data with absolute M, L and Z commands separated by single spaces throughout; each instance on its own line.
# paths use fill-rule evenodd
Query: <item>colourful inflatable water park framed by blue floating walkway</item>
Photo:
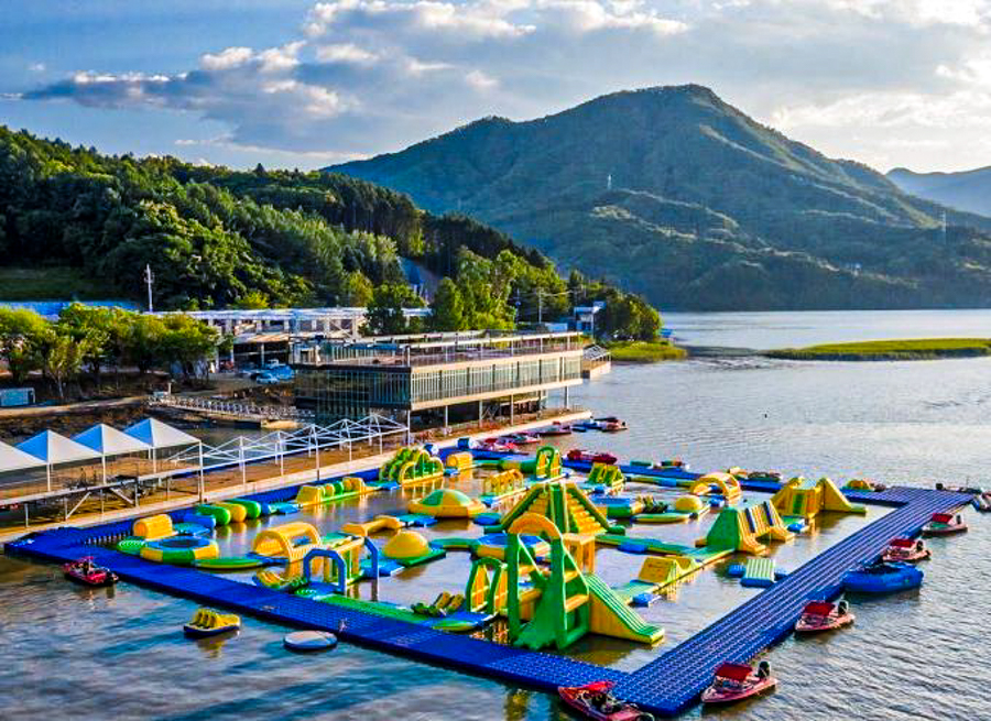
M 645 720 L 771 692 L 778 642 L 858 633 L 865 598 L 925 593 L 980 494 L 541 443 L 403 447 L 361 472 L 7 553 L 203 603 L 193 637 L 275 623 L 287 653 L 359 644 Z M 716 588 L 732 602 L 714 605 Z

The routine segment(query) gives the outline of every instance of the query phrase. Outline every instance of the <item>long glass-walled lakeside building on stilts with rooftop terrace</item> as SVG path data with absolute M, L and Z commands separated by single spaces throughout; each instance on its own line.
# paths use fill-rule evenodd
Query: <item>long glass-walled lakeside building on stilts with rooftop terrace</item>
M 435 334 L 325 341 L 294 349 L 296 405 L 318 423 L 391 413 L 411 424 L 449 425 L 513 416 L 581 383 L 578 334 Z

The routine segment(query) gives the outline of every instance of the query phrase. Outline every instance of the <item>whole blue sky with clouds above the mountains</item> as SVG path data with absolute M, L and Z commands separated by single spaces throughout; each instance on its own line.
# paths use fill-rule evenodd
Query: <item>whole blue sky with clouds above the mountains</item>
M 12 0 L 0 123 L 313 168 L 696 83 L 832 157 L 991 165 L 991 0 Z

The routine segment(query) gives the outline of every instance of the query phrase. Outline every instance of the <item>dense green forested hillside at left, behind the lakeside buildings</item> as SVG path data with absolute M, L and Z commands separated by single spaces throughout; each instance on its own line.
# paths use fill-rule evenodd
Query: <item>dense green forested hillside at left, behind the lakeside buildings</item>
M 149 264 L 163 309 L 368 305 L 379 291 L 417 303 L 401 258 L 453 278 L 458 326 L 512 326 L 538 297 L 548 318 L 587 294 L 623 297 L 598 283 L 569 292 L 538 251 L 364 181 L 108 156 L 0 127 L 0 269 L 83 269 L 107 294 L 141 299 Z

